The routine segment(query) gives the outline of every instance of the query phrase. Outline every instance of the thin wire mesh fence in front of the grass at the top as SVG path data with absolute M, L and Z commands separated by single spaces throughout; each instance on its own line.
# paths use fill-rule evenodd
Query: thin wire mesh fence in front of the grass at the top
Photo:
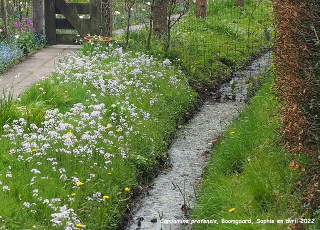
M 176 47 L 187 71 L 214 77 L 242 68 L 271 45 L 272 3 L 268 0 L 210 0 L 207 18 L 186 17 L 179 25 L 183 44 Z M 184 39 L 183 39 L 184 38 Z M 224 71 L 224 73 L 223 73 Z

